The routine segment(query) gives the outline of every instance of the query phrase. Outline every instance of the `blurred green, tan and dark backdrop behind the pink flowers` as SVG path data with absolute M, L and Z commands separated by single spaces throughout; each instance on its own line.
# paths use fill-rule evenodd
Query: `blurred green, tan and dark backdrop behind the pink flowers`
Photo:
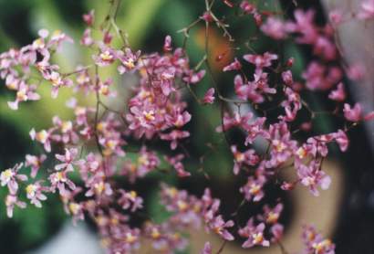
M 233 1 L 239 3 L 239 1 Z M 269 11 L 283 11 L 286 16 L 292 16 L 295 5 L 292 1 L 255 1 Z M 266 2 L 267 4 L 260 4 Z M 349 2 L 348 5 L 346 2 Z M 354 4 L 352 4 L 352 2 Z M 324 24 L 327 21 L 326 11 L 340 6 L 348 9 L 352 5 L 358 5 L 355 1 L 297 1 L 298 7 L 313 7 L 317 9 L 317 23 Z M 188 26 L 196 17 L 203 13 L 203 0 L 124 0 L 120 5 L 118 25 L 129 34 L 131 48 L 146 52 L 161 51 L 163 39 L 171 35 L 174 45 L 182 45 L 182 34 L 177 33 L 184 26 Z M 90 53 L 78 46 L 84 26 L 81 21 L 83 13 L 95 9 L 97 20 L 105 16 L 109 9 L 109 1 L 102 0 L 0 0 L 0 51 L 8 48 L 18 48 L 33 41 L 37 36 L 37 30 L 47 28 L 49 30 L 60 29 L 76 41 L 74 46 L 65 45 L 63 51 L 54 57 L 62 69 L 70 71 L 71 66 L 82 63 L 91 58 Z M 230 20 L 234 11 L 217 1 L 217 14 L 225 16 Z M 245 18 L 234 18 L 230 31 L 236 38 L 237 43 L 245 41 L 255 33 L 255 25 Z M 368 51 L 363 50 L 363 45 L 368 48 L 367 42 L 374 41 L 373 24 L 343 27 L 339 30 L 343 47 L 348 48 L 346 60 L 356 61 L 365 59 L 369 66 L 368 73 L 372 71 L 374 48 L 369 44 Z M 361 31 L 361 32 L 359 32 Z M 204 27 L 196 26 L 191 31 L 188 41 L 192 65 L 199 62 L 203 56 Z M 371 33 L 372 32 L 372 33 Z M 234 75 L 222 75 L 220 69 L 230 62 L 235 55 L 248 52 L 248 48 L 242 47 L 237 52 L 231 48 L 227 39 L 221 36 L 219 30 L 211 32 L 211 62 L 213 63 L 214 75 L 220 80 L 220 88 L 227 96 L 233 93 Z M 352 40 L 354 38 L 354 40 Z M 353 42 L 354 43 L 353 43 Z M 119 41 L 115 41 L 115 44 Z M 370 46 L 371 45 L 371 46 Z M 300 77 L 306 64 L 312 58 L 310 48 L 300 47 L 291 41 L 285 41 L 282 45 L 274 43 L 268 37 L 258 37 L 251 43 L 256 52 L 283 52 L 284 59 L 296 58 L 293 72 Z M 371 48 L 371 49 L 370 49 Z M 360 53 L 361 52 L 361 53 Z M 370 54 L 371 53 L 371 54 Z M 361 55 L 359 55 L 361 54 Z M 217 61 L 215 58 L 223 55 L 223 59 Z M 361 56 L 361 57 L 357 57 Z M 63 57 L 62 57 L 63 56 Z M 69 69 L 70 67 L 70 69 Z M 370 69 L 371 68 L 371 69 Z M 118 77 L 116 69 L 107 69 L 106 76 Z M 297 79 L 297 78 L 296 78 Z M 300 79 L 301 80 L 301 79 Z M 351 101 L 365 103 L 366 110 L 372 109 L 374 101 L 373 78 L 365 79 L 362 84 L 350 84 Z M 345 80 L 348 82 L 348 79 Z M 47 128 L 51 124 L 51 118 L 57 114 L 62 119 L 68 119 L 72 112 L 64 107 L 71 93 L 63 91 L 57 100 L 49 99 L 49 90 L 42 89 L 40 93 L 44 96 L 42 101 L 24 103 L 20 110 L 11 111 L 6 101 L 12 101 L 13 92 L 6 90 L 1 81 L 0 85 L 0 169 L 13 166 L 24 160 L 26 153 L 40 152 L 28 136 L 31 128 L 36 130 Z M 118 89 L 123 93 L 121 100 L 108 101 L 109 104 L 124 109 L 126 96 L 129 88 L 134 84 L 134 77 L 130 75 L 116 80 Z M 209 79 L 196 87 L 196 92 L 203 96 L 203 92 L 210 87 Z M 323 93 L 313 96 L 307 95 L 306 100 L 318 110 L 328 110 L 331 105 L 321 100 Z M 326 97 L 326 95 L 325 95 Z M 186 144 L 191 153 L 191 160 L 187 164 L 187 170 L 192 171 L 192 177 L 187 180 L 178 180 L 170 175 L 159 173 L 151 174 L 137 184 L 142 196 L 145 196 L 146 211 L 155 221 L 161 222 L 167 213 L 158 204 L 158 196 L 155 195 L 159 187 L 159 180 L 166 179 L 172 185 L 189 189 L 192 194 L 201 195 L 203 188 L 208 185 L 213 189 L 213 196 L 223 199 L 223 214 L 229 216 L 237 206 L 242 197 L 237 193 L 240 185 L 245 179 L 235 179 L 232 175 L 232 158 L 228 148 L 222 141 L 222 136 L 214 132 L 214 128 L 220 124 L 220 108 L 198 107 L 192 98 L 186 95 L 186 100 L 192 103 L 189 111 L 192 111 L 193 124 L 190 124 L 192 139 Z M 92 101 L 86 98 L 89 104 Z M 251 111 L 253 109 L 244 109 Z M 276 113 L 276 112 L 275 112 Z M 338 119 L 320 116 L 313 122 L 313 130 L 316 133 L 331 132 L 341 125 Z M 202 131 L 203 130 L 203 131 Z M 296 189 L 294 192 L 284 193 L 279 189 L 269 187 L 266 190 L 269 195 L 264 203 L 274 204 L 281 198 L 286 204 L 286 210 L 281 221 L 286 225 L 284 245 L 291 253 L 300 249 L 300 227 L 306 222 L 314 223 L 323 234 L 332 238 L 337 244 L 337 253 L 374 253 L 374 169 L 372 126 L 358 126 L 350 132 L 351 144 L 348 153 L 338 153 L 334 150 L 331 160 L 327 162 L 327 174 L 333 178 L 331 188 L 322 193 L 318 198 L 311 196 L 304 188 Z M 310 133 L 309 133 L 310 134 Z M 306 133 L 299 133 L 299 139 L 306 137 Z M 231 133 L 233 140 L 243 139 L 243 133 Z M 214 149 L 209 150 L 208 146 Z M 167 153 L 168 147 L 154 143 L 153 148 Z M 209 152 L 205 157 L 204 170 L 210 179 L 207 180 L 199 172 L 199 157 Z M 131 156 L 131 154 L 130 154 Z M 193 174 L 193 171 L 195 174 Z M 282 175 L 286 179 L 287 175 Z M 124 185 L 127 185 L 124 183 Z M 0 198 L 4 200 L 4 189 L 0 189 Z M 255 215 L 261 209 L 261 205 L 244 206 L 241 209 L 240 221 L 246 221 L 251 215 Z M 139 219 L 139 224 L 142 222 Z M 203 230 L 202 230 L 203 231 Z M 184 253 L 199 253 L 203 248 L 203 242 L 207 239 L 213 241 L 213 248 L 218 249 L 221 242 L 218 238 L 207 236 L 203 232 L 192 233 L 192 245 Z M 244 253 L 240 248 L 240 242 L 227 245 L 223 253 Z M 26 210 L 16 209 L 15 217 L 8 219 L 5 216 L 5 206 L 0 202 L 0 253 L 103 253 L 99 248 L 99 240 L 95 235 L 94 228 L 88 223 L 79 223 L 73 227 L 71 221 L 64 214 L 61 202 L 57 196 L 50 196 L 42 209 L 28 206 Z M 271 249 L 251 249 L 245 253 L 280 253 L 275 246 Z M 141 253 L 151 253 L 142 250 Z

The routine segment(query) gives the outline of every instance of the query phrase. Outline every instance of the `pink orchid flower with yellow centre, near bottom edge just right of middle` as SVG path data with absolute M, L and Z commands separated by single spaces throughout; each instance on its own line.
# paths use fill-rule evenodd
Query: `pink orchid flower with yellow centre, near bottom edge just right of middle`
M 249 219 L 244 228 L 240 228 L 238 233 L 241 237 L 247 238 L 242 245 L 243 248 L 252 248 L 255 245 L 269 247 L 270 242 L 264 236 L 265 224 L 260 223 L 255 226 L 253 218 Z

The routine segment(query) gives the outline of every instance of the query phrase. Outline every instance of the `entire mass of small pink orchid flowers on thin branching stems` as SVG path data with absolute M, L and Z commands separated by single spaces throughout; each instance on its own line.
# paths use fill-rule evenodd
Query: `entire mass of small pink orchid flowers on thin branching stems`
M 231 1 L 223 2 L 230 8 L 235 7 Z M 39 31 L 39 37 L 30 45 L 12 48 L 0 55 L 0 77 L 5 79 L 9 90 L 16 91 L 16 100 L 8 102 L 13 110 L 18 109 L 19 102 L 39 100 L 37 89 L 46 83 L 51 87 L 52 97 L 57 97 L 60 89 L 71 89 L 96 99 L 92 107 L 72 98 L 67 106 L 74 119 L 55 116 L 50 128 L 29 132 L 45 153 L 27 154 L 25 162 L 1 172 L 1 185 L 8 189 L 5 199 L 8 217 L 13 216 L 16 206 L 26 207 L 19 187 L 25 185 L 26 198 L 32 205 L 41 207 L 48 196 L 56 194 L 74 222 L 86 217 L 94 221 L 101 243 L 109 253 L 133 253 L 140 249 L 142 238 L 150 240 L 153 249 L 174 253 L 188 245 L 184 231 L 201 227 L 224 241 L 234 240 L 237 232 L 245 238 L 245 249 L 280 243 L 284 230 L 279 222 L 284 208 L 281 201 L 275 206 L 265 204 L 263 213 L 250 217 L 241 227 L 234 223 L 234 217 L 223 218 L 220 207 L 224 201 L 213 198 L 209 188 L 197 197 L 162 183 L 161 205 L 170 216 L 158 224 L 151 218 L 138 227 L 132 223 L 146 209 L 147 198 L 135 185 L 142 178 L 155 171 L 175 171 L 180 178 L 193 174 L 185 163 L 191 162 L 184 144 L 193 137 L 193 128 L 188 124 L 194 120 L 186 91 L 201 106 L 213 108 L 214 104 L 221 104 L 222 121 L 216 132 L 223 134 L 233 156 L 233 175 L 246 181 L 237 192 L 249 204 L 262 204 L 266 185 L 275 185 L 279 191 L 304 185 L 312 195 L 318 196 L 319 188 L 325 190 L 331 184 L 323 165 L 329 145 L 336 143 L 341 152 L 346 152 L 350 128 L 374 119 L 373 112 L 366 113 L 358 103 L 352 106 L 346 102 L 345 68 L 337 63 L 340 56 L 334 43 L 335 26 L 317 25 L 313 10 L 296 9 L 293 18 L 285 19 L 245 0 L 237 6 L 236 13 L 251 16 L 257 30 L 267 37 L 293 38 L 296 44 L 307 45 L 313 59 L 307 63 L 300 79 L 291 71 L 294 58 L 285 60 L 275 52 L 254 50 L 235 56 L 221 69 L 223 73 L 234 74 L 233 84 L 229 86 L 234 98 L 226 98 L 211 70 L 208 30 L 216 25 L 223 30 L 223 36 L 231 38 L 231 35 L 228 25 L 214 15 L 213 3 L 206 3 L 203 16 L 192 23 L 196 26 L 204 22 L 207 35 L 205 55 L 194 68 L 188 50 L 184 46 L 173 48 L 170 36 L 165 37 L 161 53 L 145 54 L 130 48 L 112 15 L 117 12 L 109 12 L 98 27 L 93 11 L 83 16 L 88 27 L 80 44 L 94 52 L 87 66 L 61 71 L 52 56 L 58 53 L 63 42 L 72 39 L 60 31 L 49 35 L 45 29 Z M 358 16 L 372 18 L 372 1 L 364 1 L 361 7 Z M 334 20 L 338 23 L 338 16 Z M 192 26 L 182 29 L 185 39 Z M 120 48 L 112 43 L 111 28 L 123 42 Z M 96 33 L 99 39 L 94 36 Z M 203 64 L 206 70 L 201 69 Z M 109 66 L 115 67 L 119 75 L 132 74 L 137 78 L 125 109 L 113 110 L 105 102 L 119 97 L 113 86 L 115 79 L 104 79 L 100 75 L 99 70 Z M 194 87 L 199 86 L 206 72 L 213 79 L 213 86 L 200 99 Z M 306 132 L 306 138 L 300 139 L 294 133 L 312 126 L 319 113 L 302 96 L 313 90 L 322 91 L 336 105 L 330 113 L 341 115 L 344 125 L 327 133 Z M 226 103 L 232 107 L 225 107 Z M 250 111 L 243 111 L 243 104 Z M 268 114 L 273 110 L 278 111 L 275 117 Z M 298 121 L 301 114 L 309 118 L 307 122 Z M 244 136 L 233 142 L 230 133 L 235 131 Z M 170 149 L 156 151 L 155 142 Z M 264 143 L 265 149 L 259 149 L 255 143 Z M 278 185 L 278 174 L 286 168 L 294 169 L 295 180 Z M 27 174 L 21 173 L 22 170 Z M 123 187 L 124 182 L 128 187 Z M 304 239 L 308 253 L 334 253 L 334 245 L 314 228 L 305 228 Z M 205 244 L 202 253 L 212 253 L 210 243 Z

